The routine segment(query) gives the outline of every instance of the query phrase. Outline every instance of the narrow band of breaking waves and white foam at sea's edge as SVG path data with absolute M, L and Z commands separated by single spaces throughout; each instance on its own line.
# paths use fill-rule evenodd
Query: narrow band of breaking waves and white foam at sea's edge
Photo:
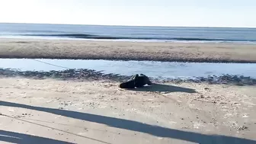
M 218 38 L 193 37 L 117 37 L 97 34 L 10 34 L 0 35 L 0 39 L 32 39 L 32 40 L 86 40 L 110 42 L 144 42 L 144 43 L 222 43 L 251 44 L 256 46 L 256 40 L 232 40 Z

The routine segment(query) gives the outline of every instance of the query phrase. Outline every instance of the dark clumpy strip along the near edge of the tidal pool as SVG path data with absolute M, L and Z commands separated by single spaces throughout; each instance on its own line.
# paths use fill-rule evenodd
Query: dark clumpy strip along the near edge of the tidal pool
M 78 81 L 101 81 L 126 82 L 133 75 L 118 75 L 115 73 L 104 74 L 94 69 L 66 69 L 51 70 L 50 72 L 40 71 L 18 71 L 16 69 L 0 69 L 0 78 L 32 78 L 32 79 L 59 79 L 59 80 L 78 80 Z M 153 83 L 206 83 L 208 85 L 256 85 L 256 79 L 243 75 L 209 75 L 208 77 L 194 78 L 151 78 Z

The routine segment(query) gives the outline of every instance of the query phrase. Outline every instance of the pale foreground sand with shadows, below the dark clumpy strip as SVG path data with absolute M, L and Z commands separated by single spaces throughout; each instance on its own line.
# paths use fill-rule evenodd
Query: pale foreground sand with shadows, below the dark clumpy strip
M 256 143 L 255 86 L 117 85 L 0 78 L 0 142 Z

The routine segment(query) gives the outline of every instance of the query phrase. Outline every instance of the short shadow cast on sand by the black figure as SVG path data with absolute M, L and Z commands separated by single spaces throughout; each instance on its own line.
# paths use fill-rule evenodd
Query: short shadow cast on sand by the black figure
M 174 85 L 152 84 L 151 86 L 144 86 L 142 88 L 128 89 L 131 91 L 159 91 L 159 92 L 186 92 L 197 93 L 196 90 L 191 88 L 183 88 Z

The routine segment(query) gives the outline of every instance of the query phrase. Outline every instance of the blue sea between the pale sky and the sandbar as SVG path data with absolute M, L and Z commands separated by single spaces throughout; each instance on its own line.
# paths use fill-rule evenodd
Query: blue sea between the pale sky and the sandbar
M 0 37 L 256 44 L 256 28 L 0 23 Z

